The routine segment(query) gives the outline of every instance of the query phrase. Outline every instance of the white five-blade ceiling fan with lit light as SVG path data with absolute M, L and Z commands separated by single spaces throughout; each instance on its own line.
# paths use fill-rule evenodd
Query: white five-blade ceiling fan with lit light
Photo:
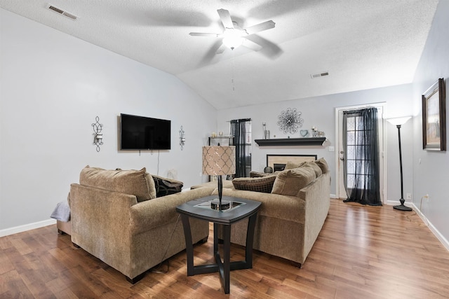
M 257 32 L 272 29 L 276 25 L 275 22 L 269 20 L 257 25 L 247 27 L 245 29 L 241 29 L 241 27 L 239 27 L 236 22 L 232 21 L 229 11 L 227 11 L 226 9 L 219 9 L 217 10 L 217 13 L 218 15 L 220 15 L 220 20 L 225 27 L 225 30 L 221 34 L 204 32 L 189 33 L 191 36 L 215 36 L 217 38 L 222 38 L 222 45 L 217 49 L 217 54 L 223 53 L 226 47 L 230 48 L 231 50 L 234 50 L 239 46 L 244 46 L 255 51 L 261 50 L 263 47 L 259 43 L 250 41 L 249 39 L 246 39 L 246 37 Z

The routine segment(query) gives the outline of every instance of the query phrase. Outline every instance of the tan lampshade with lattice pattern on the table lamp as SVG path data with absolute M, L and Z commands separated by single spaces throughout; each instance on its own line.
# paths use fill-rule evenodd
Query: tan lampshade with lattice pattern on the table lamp
M 235 146 L 203 146 L 203 174 L 220 176 L 235 173 Z

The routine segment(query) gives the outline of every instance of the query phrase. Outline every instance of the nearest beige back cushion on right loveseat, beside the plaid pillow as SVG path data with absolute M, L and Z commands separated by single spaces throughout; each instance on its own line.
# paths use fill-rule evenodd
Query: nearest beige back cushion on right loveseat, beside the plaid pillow
M 300 190 L 316 179 L 313 168 L 304 166 L 286 169 L 276 176 L 272 193 L 298 196 Z

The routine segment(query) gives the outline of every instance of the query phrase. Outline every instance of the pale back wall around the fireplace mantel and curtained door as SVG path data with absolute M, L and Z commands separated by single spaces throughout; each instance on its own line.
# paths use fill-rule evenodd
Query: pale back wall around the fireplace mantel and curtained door
M 316 80 L 316 79 L 313 79 Z M 325 82 L 323 82 L 325 83 Z M 227 120 L 236 118 L 251 118 L 253 139 L 262 139 L 262 123 L 267 124 L 267 130 L 271 132 L 271 138 L 299 138 L 299 132 L 295 135 L 284 134 L 277 125 L 278 116 L 281 111 L 296 108 L 302 112 L 304 123 L 302 128 L 310 129 L 312 126 L 318 127 L 320 131 L 326 133 L 328 141 L 324 146 L 262 146 L 253 143 L 252 166 L 253 170 L 262 171 L 266 165 L 267 154 L 297 154 L 318 155 L 318 158 L 325 158 L 330 166 L 333 177 L 331 184 L 331 194 L 336 194 L 335 155 L 337 152 L 330 152 L 329 146 L 335 146 L 335 108 L 344 106 L 355 106 L 361 104 L 373 104 L 386 102 L 385 118 L 398 116 L 410 116 L 413 113 L 411 105 L 412 85 L 396 85 L 389 88 L 377 88 L 373 90 L 360 90 L 356 92 L 345 92 L 323 97 L 312 97 L 307 99 L 296 99 L 271 104 L 257 106 L 247 106 L 239 109 L 222 110 L 217 115 L 217 126 L 224 132 L 229 132 Z M 401 129 L 401 140 L 403 148 L 411 148 L 413 134 L 411 122 L 403 125 Z M 396 127 L 385 123 L 387 134 L 387 200 L 398 202 L 401 197 L 400 172 L 398 158 L 398 132 Z M 274 137 L 276 135 L 276 137 Z M 404 194 L 412 193 L 412 151 L 403 151 L 404 170 Z

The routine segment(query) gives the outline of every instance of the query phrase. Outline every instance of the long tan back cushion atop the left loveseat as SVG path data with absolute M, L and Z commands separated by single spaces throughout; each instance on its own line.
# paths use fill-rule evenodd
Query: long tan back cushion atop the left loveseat
M 106 170 L 86 166 L 81 170 L 79 183 L 135 195 L 138 202 L 156 198 L 153 178 L 151 174 L 147 173 L 145 167 L 140 170 Z

